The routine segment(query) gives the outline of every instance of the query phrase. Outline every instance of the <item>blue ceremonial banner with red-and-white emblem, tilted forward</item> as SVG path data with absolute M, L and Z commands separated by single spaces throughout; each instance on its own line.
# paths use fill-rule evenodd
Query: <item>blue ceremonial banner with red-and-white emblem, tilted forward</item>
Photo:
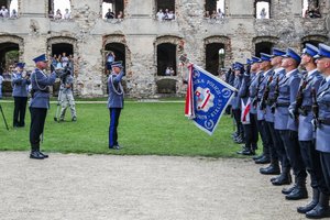
M 237 89 L 195 64 L 188 68 L 185 114 L 211 135 Z

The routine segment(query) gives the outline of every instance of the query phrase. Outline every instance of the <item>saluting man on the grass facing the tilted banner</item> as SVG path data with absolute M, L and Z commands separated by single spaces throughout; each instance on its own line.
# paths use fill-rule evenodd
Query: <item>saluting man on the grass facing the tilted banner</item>
M 118 123 L 120 112 L 123 108 L 124 91 L 121 85 L 122 77 L 125 75 L 122 62 L 113 62 L 111 64 L 112 72 L 108 78 L 109 98 L 108 108 L 110 111 L 110 125 L 109 125 L 109 148 L 120 150 L 118 144 Z

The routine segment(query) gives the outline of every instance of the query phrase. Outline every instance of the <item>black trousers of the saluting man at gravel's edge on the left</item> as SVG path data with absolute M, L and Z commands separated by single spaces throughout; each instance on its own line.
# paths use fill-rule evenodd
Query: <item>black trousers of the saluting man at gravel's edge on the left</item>
M 31 125 L 30 125 L 30 143 L 32 151 L 38 151 L 40 136 L 44 132 L 47 109 L 30 107 Z

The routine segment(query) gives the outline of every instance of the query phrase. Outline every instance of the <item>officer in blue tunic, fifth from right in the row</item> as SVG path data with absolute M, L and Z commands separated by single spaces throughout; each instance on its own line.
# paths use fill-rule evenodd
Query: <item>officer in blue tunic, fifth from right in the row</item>
M 270 54 L 261 53 L 261 59 L 263 61 L 261 63 L 261 69 L 263 70 L 264 78 L 260 84 L 260 89 L 257 94 L 257 120 L 261 128 L 260 132 L 262 134 L 263 143 L 270 152 L 271 165 L 265 168 L 260 168 L 260 173 L 266 175 L 277 175 L 280 173 L 278 165 L 278 156 L 274 146 L 275 140 L 273 140 L 273 131 L 268 127 L 268 122 L 273 122 L 273 117 L 268 117 L 268 114 L 266 114 L 266 105 L 264 100 L 264 95 L 268 89 L 267 87 L 273 80 L 274 74 L 271 58 L 272 56 Z

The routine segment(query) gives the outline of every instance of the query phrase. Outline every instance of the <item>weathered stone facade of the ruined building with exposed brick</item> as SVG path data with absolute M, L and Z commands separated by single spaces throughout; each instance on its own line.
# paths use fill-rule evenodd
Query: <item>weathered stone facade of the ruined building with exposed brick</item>
M 0 19 L 0 44 L 19 45 L 20 59 L 33 68 L 32 58 L 41 53 L 52 54 L 52 45 L 73 45 L 79 59 L 75 68 L 76 94 L 84 97 L 106 96 L 106 45 L 124 45 L 127 94 L 135 98 L 162 96 L 164 84 L 174 94 L 185 91 L 186 74 L 176 62 L 176 76 L 157 75 L 157 45 L 176 45 L 176 54 L 186 53 L 190 61 L 206 66 L 206 46 L 223 45 L 224 64 L 244 62 L 264 43 L 278 47 L 301 50 L 306 42 L 330 38 L 330 1 L 319 0 L 320 19 L 301 18 L 302 0 L 268 1 L 271 19 L 254 18 L 255 1 L 226 0 L 226 18 L 206 20 L 205 0 L 176 0 L 175 21 L 155 19 L 157 0 L 124 0 L 124 19 L 106 21 L 101 16 L 102 0 L 72 0 L 72 20 L 52 21 L 47 16 L 48 1 L 19 0 L 19 19 Z M 184 47 L 179 44 L 184 44 Z M 164 91 L 164 90 L 163 90 Z M 165 90 L 166 92 L 166 90 Z M 170 92 L 169 92 L 170 94 Z

